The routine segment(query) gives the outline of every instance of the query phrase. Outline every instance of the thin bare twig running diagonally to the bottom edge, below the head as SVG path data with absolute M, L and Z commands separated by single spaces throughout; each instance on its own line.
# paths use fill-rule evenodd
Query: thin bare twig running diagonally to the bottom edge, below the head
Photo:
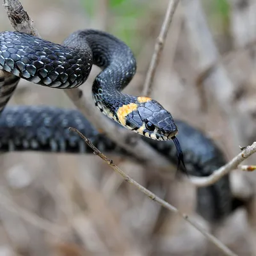
M 227 248 L 221 241 L 219 241 L 216 237 L 212 236 L 209 234 L 207 231 L 204 230 L 204 228 L 200 227 L 195 221 L 191 220 L 187 214 L 183 214 L 180 212 L 176 207 L 173 205 L 169 204 L 168 202 L 164 201 L 163 199 L 159 198 L 157 195 L 149 191 L 148 189 L 144 188 L 141 186 L 138 182 L 135 180 L 131 179 L 129 175 L 127 175 L 125 172 L 123 172 L 118 166 L 116 166 L 115 163 L 113 163 L 113 160 L 109 159 L 106 157 L 100 150 L 93 145 L 93 143 L 86 138 L 81 132 L 79 132 L 76 128 L 69 127 L 70 131 L 77 132 L 77 134 L 85 141 L 85 143 L 92 148 L 93 153 L 96 156 L 99 156 L 103 161 L 108 163 L 108 165 L 119 175 L 121 175 L 126 182 L 129 184 L 135 186 L 137 189 L 139 189 L 142 193 L 148 196 L 150 200 L 157 202 L 159 205 L 163 206 L 164 208 L 168 209 L 169 211 L 175 212 L 175 214 L 179 214 L 185 221 L 188 221 L 193 227 L 195 227 L 198 231 L 200 231 L 211 243 L 215 244 L 225 255 L 236 255 L 233 253 L 230 249 Z

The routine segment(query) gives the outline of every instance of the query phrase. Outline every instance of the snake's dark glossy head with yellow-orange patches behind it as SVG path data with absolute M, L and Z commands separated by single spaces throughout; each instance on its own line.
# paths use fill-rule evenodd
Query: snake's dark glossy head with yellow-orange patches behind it
M 127 129 L 152 140 L 171 140 L 178 132 L 171 113 L 147 97 L 138 97 L 135 103 L 123 105 L 117 116 Z

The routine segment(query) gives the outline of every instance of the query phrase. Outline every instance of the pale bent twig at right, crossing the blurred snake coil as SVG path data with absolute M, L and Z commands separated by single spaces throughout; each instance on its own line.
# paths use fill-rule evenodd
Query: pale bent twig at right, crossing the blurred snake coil
M 198 187 L 205 187 L 214 184 L 224 175 L 235 170 L 246 158 L 256 152 L 256 142 L 246 147 L 240 154 L 234 157 L 230 162 L 216 170 L 212 175 L 207 177 L 191 177 L 189 180 Z

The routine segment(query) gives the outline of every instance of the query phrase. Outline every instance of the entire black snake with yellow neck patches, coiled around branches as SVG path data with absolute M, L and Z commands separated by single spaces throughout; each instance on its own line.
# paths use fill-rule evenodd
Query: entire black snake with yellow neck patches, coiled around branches
M 207 176 L 225 164 L 211 140 L 185 122 L 174 122 L 159 102 L 121 92 L 136 72 L 131 49 L 115 36 L 92 29 L 72 33 L 63 45 L 19 32 L 0 33 L 0 69 L 9 72 L 0 76 L 0 151 L 92 153 L 77 134 L 68 131 L 75 127 L 102 152 L 126 154 L 79 111 L 47 106 L 5 108 L 19 78 L 51 88 L 75 88 L 86 81 L 92 65 L 102 68 L 92 95 L 104 115 L 143 135 L 150 147 L 172 163 L 185 163 L 187 168 L 181 168 L 190 175 Z M 228 175 L 197 189 L 197 195 L 197 211 L 206 220 L 221 220 L 234 210 Z

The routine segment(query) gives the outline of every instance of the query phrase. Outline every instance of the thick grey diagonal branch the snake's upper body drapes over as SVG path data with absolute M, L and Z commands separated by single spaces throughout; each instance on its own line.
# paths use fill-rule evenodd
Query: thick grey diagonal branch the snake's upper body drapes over
M 38 31 L 33 26 L 33 20 L 29 17 L 28 13 L 25 12 L 19 0 L 3 0 L 3 3 L 10 22 L 16 31 L 40 37 Z M 161 156 L 161 154 L 157 153 L 156 150 L 148 147 L 147 143 L 142 141 L 138 134 L 126 129 L 120 129 L 117 125 L 113 124 L 111 120 L 103 116 L 102 113 L 95 108 L 91 93 L 83 94 L 83 91 L 79 88 L 62 91 L 67 94 L 76 108 L 86 116 L 96 129 L 103 131 L 104 134 L 115 141 L 117 145 L 127 150 L 132 156 L 140 159 L 141 163 L 154 166 L 155 168 L 163 168 L 164 170 L 170 168 L 169 161 Z M 133 143 L 131 139 L 129 140 L 132 136 L 136 136 L 136 140 L 133 140 Z

